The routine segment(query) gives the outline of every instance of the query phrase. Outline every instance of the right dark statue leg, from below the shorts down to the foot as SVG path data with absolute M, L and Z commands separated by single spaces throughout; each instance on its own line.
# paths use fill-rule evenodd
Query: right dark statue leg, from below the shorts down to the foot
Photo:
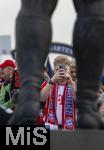
M 74 29 L 74 53 L 77 62 L 78 128 L 100 128 L 102 121 L 97 101 L 99 81 L 104 67 L 104 21 L 81 18 Z

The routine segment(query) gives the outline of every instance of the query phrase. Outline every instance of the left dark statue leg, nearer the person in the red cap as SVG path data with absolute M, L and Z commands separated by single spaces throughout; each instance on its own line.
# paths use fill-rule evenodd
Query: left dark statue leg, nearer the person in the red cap
M 41 70 L 51 44 L 50 18 L 57 0 L 22 0 L 16 20 L 17 63 L 22 88 L 9 124 L 35 124 L 40 108 Z

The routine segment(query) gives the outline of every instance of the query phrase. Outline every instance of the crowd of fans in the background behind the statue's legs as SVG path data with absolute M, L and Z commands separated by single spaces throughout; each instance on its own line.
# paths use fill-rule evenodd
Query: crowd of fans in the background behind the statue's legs
M 48 68 L 42 71 L 41 107 L 37 124 L 45 124 L 51 130 L 76 128 L 76 62 L 66 55 L 54 59 L 54 73 L 50 77 Z M 16 62 L 5 60 L 0 64 L 0 123 L 6 124 L 18 103 L 18 93 L 21 88 Z M 104 76 L 101 77 L 98 108 L 104 116 Z M 35 100 L 35 98 L 34 98 Z M 3 114 L 3 115 L 2 115 Z M 9 116 L 10 114 L 10 116 Z M 3 118 L 4 117 L 4 118 Z

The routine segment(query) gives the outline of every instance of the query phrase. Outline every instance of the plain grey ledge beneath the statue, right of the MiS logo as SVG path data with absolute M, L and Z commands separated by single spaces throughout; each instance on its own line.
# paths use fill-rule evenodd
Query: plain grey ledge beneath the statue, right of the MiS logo
M 50 150 L 104 150 L 104 130 L 52 131 Z

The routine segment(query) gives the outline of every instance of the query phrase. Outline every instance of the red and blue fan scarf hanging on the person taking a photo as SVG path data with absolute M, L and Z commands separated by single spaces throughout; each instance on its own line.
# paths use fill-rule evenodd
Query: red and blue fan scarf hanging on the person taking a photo
M 45 123 L 50 124 L 50 126 L 55 125 L 58 128 L 58 121 L 56 117 L 57 98 L 58 83 L 54 83 L 50 96 L 45 104 L 44 121 Z M 75 120 L 75 101 L 73 99 L 72 88 L 69 84 L 66 84 L 62 96 L 62 129 L 74 130 Z

